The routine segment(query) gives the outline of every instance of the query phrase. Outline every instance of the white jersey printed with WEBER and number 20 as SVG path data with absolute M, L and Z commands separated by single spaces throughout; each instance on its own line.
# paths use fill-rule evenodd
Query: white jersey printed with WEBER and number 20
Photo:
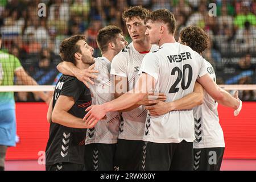
M 155 92 L 165 93 L 166 102 L 178 100 L 193 92 L 197 78 L 207 74 L 203 57 L 179 43 L 163 44 L 158 51 L 148 53 L 139 73 L 155 78 Z M 171 111 L 160 117 L 147 115 L 144 141 L 180 143 L 195 140 L 193 110 Z

